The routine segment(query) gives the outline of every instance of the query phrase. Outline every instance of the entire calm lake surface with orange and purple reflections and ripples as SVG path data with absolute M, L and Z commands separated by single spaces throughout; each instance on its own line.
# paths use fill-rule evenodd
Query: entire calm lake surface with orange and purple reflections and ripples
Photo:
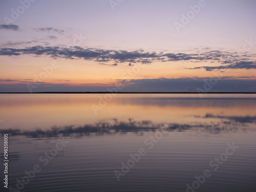
M 3 162 L 7 133 L 8 186 L 23 187 L 20 191 L 255 191 L 256 95 L 102 98 L 1 94 L 0 153 Z M 26 180 L 25 171 L 35 165 L 40 171 Z M 3 180 L 3 166 L 0 172 Z M 3 185 L 0 191 L 9 191 Z

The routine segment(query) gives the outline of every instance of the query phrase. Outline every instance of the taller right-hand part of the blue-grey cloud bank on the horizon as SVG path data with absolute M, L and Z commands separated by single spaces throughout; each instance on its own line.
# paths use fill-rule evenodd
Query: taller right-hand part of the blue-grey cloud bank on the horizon
M 123 84 L 122 91 L 139 92 L 198 92 L 204 89 L 210 78 L 158 78 L 158 79 L 117 79 Z M 236 77 L 223 77 L 208 92 L 255 92 L 256 80 Z

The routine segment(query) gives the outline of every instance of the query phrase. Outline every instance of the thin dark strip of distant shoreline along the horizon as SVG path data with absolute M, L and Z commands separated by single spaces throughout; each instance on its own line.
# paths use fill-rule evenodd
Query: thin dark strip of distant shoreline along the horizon
M 256 94 L 254 92 L 0 92 L 0 94 Z

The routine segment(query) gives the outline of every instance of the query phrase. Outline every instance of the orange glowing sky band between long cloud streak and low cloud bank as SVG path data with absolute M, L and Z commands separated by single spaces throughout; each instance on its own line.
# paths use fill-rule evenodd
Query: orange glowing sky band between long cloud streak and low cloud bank
M 32 57 L 19 56 L 18 60 L 10 56 L 4 56 L 3 61 L 8 68 L 3 68 L 3 79 L 16 79 L 25 81 L 24 79 L 32 79 L 36 81 L 36 77 L 40 81 L 51 84 L 70 84 L 74 86 L 111 86 L 117 83 L 116 79 L 124 79 L 129 76 L 130 79 L 157 79 L 157 78 L 211 78 L 229 76 L 232 78 L 244 77 L 243 79 L 254 79 L 255 70 L 235 70 L 229 69 L 224 72 L 220 71 L 205 71 L 205 69 L 189 70 L 184 68 L 193 68 L 199 66 L 197 63 L 187 62 L 154 62 L 145 65 L 143 68 L 128 67 L 126 63 L 119 63 L 118 66 L 99 65 L 95 61 L 83 59 L 77 60 L 61 60 L 49 57 Z M 48 68 L 51 62 L 57 62 L 58 67 L 53 69 L 47 78 L 41 79 L 40 74 L 45 73 L 42 66 Z M 47 63 L 47 64 L 46 64 Z M 134 63 L 134 66 L 137 64 Z M 209 66 L 210 63 L 204 62 L 200 65 Z M 15 68 L 15 70 L 14 70 Z M 183 70 L 181 70 L 183 69 Z M 123 75 L 125 74 L 125 75 Z M 44 75 L 42 75 L 44 77 Z M 15 84 L 17 81 L 2 82 L 2 84 Z M 26 83 L 26 82 L 19 82 Z

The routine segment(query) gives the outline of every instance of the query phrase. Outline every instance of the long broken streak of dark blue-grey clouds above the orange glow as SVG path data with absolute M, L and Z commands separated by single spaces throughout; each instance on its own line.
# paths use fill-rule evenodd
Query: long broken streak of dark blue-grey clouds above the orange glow
M 48 28 L 47 28 L 48 29 Z M 48 29 L 48 30 L 51 30 Z M 51 39 L 56 39 L 56 36 L 49 36 Z M 199 52 L 199 51 L 198 51 Z M 65 47 L 26 47 L 24 49 L 2 48 L 0 55 L 48 55 L 53 58 L 67 58 L 67 59 L 84 59 L 94 60 L 100 62 L 101 65 L 110 65 L 101 62 L 115 62 L 117 63 L 129 62 L 128 66 L 132 66 L 132 62 L 150 64 L 152 62 L 166 62 L 166 61 L 189 61 L 193 62 L 219 62 L 220 66 L 201 66 L 195 68 L 185 68 L 189 70 L 205 69 L 206 71 L 223 70 L 223 69 L 256 69 L 256 60 L 253 55 L 239 56 L 236 52 L 225 52 L 218 50 L 204 50 L 201 53 L 156 53 L 145 51 L 126 51 L 126 50 L 104 50 L 95 48 L 81 48 L 78 46 Z M 131 64 L 131 65 L 130 65 Z

